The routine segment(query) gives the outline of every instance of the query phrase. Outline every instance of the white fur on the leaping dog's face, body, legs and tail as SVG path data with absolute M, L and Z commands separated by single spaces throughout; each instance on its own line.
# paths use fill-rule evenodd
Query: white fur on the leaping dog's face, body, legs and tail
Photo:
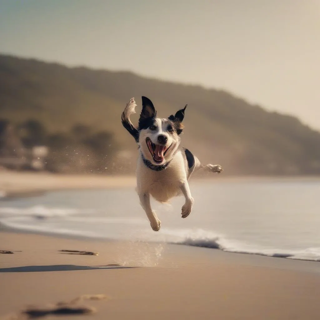
M 129 117 L 135 113 L 136 103 L 134 98 L 130 100 L 124 109 L 123 118 L 132 125 Z M 154 212 L 150 205 L 150 195 L 159 202 L 167 202 L 172 197 L 183 195 L 185 197 L 185 204 L 182 206 L 182 218 L 188 217 L 192 211 L 194 199 L 191 196 L 188 179 L 192 172 L 203 168 L 210 172 L 222 171 L 220 165 L 202 165 L 200 161 L 194 157 L 194 165 L 189 168 L 185 154 L 185 150 L 180 147 L 180 136 L 173 132 L 168 133 L 167 127 L 170 121 L 168 119 L 155 118 L 154 124 L 156 130 L 141 129 L 139 130 L 139 157 L 136 169 L 137 178 L 137 193 L 140 198 L 140 203 L 146 212 L 150 225 L 154 231 L 159 231 L 161 222 L 158 219 L 156 212 Z M 134 126 L 132 125 L 134 128 Z M 135 129 L 135 128 L 134 128 Z M 137 129 L 135 129 L 137 130 Z M 162 163 L 156 163 L 148 149 L 146 139 L 149 138 L 154 144 L 157 144 L 157 137 L 164 135 L 167 137 L 165 148 L 167 150 Z M 167 165 L 165 170 L 154 171 L 151 170 L 143 161 L 142 156 L 153 165 Z

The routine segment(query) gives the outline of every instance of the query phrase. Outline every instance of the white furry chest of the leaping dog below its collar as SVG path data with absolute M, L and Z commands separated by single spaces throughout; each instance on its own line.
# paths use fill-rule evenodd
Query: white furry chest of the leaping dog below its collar
M 137 166 L 137 188 L 139 192 L 148 192 L 159 202 L 167 202 L 180 194 L 180 186 L 186 180 L 183 157 L 178 152 L 170 165 L 162 171 L 147 168 L 141 159 Z

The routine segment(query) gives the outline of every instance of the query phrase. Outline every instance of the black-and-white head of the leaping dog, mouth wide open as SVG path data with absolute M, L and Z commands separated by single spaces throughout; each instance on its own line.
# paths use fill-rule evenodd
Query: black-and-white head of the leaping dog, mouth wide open
M 142 110 L 139 118 L 139 145 L 145 157 L 154 165 L 168 163 L 180 144 L 183 130 L 182 120 L 187 105 L 174 116 L 167 119 L 157 118 L 151 100 L 142 97 Z

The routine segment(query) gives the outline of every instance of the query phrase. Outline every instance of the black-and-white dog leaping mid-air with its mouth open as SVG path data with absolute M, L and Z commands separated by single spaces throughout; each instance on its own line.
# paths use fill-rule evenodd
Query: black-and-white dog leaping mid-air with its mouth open
M 122 113 L 121 122 L 138 144 L 136 190 L 140 204 L 148 216 L 151 228 L 159 231 L 161 221 L 151 208 L 150 196 L 160 203 L 165 203 L 172 197 L 183 195 L 185 204 L 182 206 L 181 215 L 186 218 L 194 204 L 188 184 L 191 174 L 198 169 L 220 173 L 222 168 L 218 164 L 201 164 L 188 149 L 180 146 L 180 134 L 184 129 L 182 121 L 187 105 L 174 116 L 161 119 L 156 116 L 157 112 L 151 100 L 142 97 L 138 128 L 130 120 L 130 116 L 136 113 L 136 106 L 132 98 Z

